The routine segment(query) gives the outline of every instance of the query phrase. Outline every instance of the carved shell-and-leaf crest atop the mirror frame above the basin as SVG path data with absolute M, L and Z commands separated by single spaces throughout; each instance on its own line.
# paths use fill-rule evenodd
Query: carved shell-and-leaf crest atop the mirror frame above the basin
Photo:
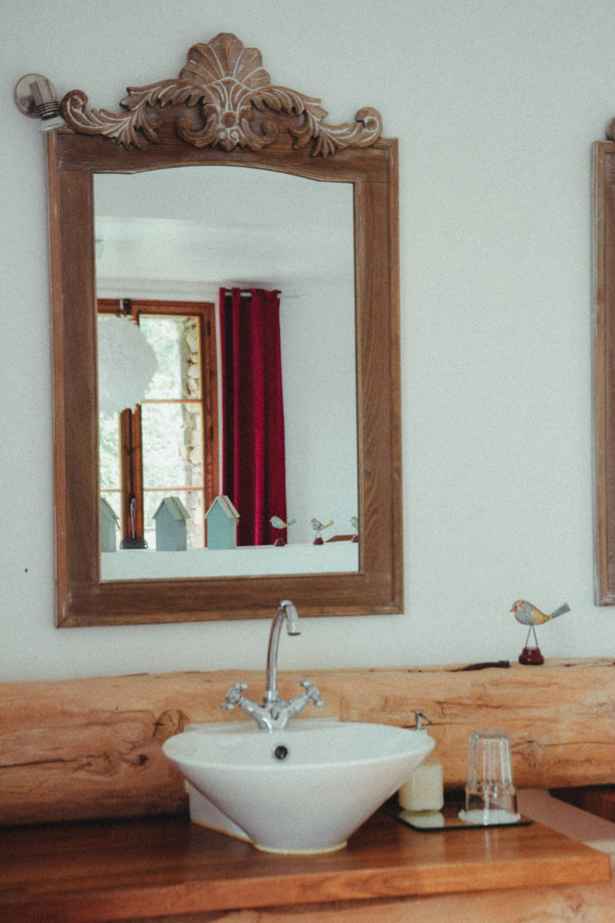
M 328 113 L 320 100 L 296 90 L 275 87 L 256 48 L 244 48 L 229 32 L 221 32 L 207 44 L 196 44 L 179 78 L 161 80 L 148 87 L 128 88 L 120 105 L 125 113 L 91 109 L 81 90 L 71 90 L 62 101 L 65 122 L 77 133 L 112 138 L 124 148 L 143 147 L 146 139 L 158 140 L 157 109 L 183 104 L 175 121 L 180 138 L 197 148 L 219 146 L 224 150 L 261 150 L 287 131 L 295 138 L 293 148 L 312 143 L 313 155 L 326 157 L 349 147 L 370 147 L 380 138 L 382 119 L 375 109 L 361 109 L 355 125 L 327 125 Z M 185 107 L 199 107 L 199 124 L 186 115 Z M 302 116 L 295 126 L 282 116 Z

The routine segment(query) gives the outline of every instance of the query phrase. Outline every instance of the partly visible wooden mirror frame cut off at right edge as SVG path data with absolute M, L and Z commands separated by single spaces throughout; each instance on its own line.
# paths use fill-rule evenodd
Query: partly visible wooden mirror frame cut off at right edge
M 592 149 L 595 599 L 615 604 L 615 119 Z

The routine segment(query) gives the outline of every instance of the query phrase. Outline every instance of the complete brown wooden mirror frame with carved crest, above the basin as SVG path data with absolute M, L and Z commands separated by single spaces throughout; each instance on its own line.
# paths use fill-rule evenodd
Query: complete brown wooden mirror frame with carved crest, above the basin
M 319 101 L 272 86 L 229 34 L 195 45 L 179 78 L 128 90 L 124 112 L 65 95 L 47 134 L 52 258 L 57 618 L 60 627 L 402 611 L 396 140 L 380 115 L 329 126 Z M 101 582 L 93 179 L 235 164 L 354 186 L 358 572 Z

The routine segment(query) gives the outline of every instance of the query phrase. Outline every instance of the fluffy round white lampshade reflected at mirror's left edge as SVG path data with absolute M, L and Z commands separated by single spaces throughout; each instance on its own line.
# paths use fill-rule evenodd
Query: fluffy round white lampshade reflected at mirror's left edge
M 135 410 L 158 369 L 158 360 L 143 330 L 128 315 L 100 318 L 99 410 Z

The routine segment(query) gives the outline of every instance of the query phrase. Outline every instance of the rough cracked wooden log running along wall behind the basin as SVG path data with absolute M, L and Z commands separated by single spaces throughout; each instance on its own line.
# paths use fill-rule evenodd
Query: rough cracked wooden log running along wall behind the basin
M 465 783 L 468 731 L 494 725 L 511 735 L 518 787 L 615 782 L 611 661 L 466 666 L 317 670 L 310 678 L 325 700 L 318 715 L 411 726 L 414 710 L 428 714 L 449 789 Z M 283 697 L 301 677 L 280 675 Z M 264 675 L 250 671 L 4 684 L 0 822 L 185 811 L 181 777 L 161 744 L 190 721 L 242 720 L 219 709 L 240 678 L 259 699 Z

